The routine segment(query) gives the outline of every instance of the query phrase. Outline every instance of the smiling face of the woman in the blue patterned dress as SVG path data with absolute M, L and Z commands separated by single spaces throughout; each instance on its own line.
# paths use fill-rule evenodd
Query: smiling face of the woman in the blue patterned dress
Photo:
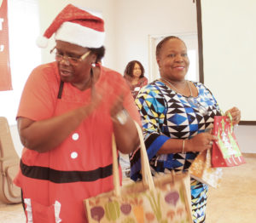
M 160 76 L 174 82 L 182 81 L 189 70 L 187 48 L 178 38 L 171 38 L 163 43 L 156 60 Z

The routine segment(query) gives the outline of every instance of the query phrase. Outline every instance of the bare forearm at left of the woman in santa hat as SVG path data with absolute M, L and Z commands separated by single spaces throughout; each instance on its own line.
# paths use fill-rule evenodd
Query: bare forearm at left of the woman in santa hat
M 89 114 L 90 107 L 83 106 L 61 116 L 37 122 L 21 117 L 18 119 L 20 140 L 28 149 L 47 152 L 67 139 L 67 136 L 77 129 Z

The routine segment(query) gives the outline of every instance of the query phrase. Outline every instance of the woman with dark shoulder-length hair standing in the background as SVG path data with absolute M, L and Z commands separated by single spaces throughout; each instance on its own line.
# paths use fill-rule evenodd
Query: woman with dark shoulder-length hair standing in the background
M 125 67 L 124 77 L 129 84 L 133 98 L 136 99 L 140 89 L 148 84 L 148 79 L 144 77 L 143 65 L 137 60 L 130 61 Z

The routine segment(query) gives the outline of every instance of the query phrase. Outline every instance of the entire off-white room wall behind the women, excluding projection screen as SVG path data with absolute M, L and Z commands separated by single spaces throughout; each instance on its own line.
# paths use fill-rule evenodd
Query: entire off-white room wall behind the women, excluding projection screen
M 148 71 L 148 35 L 196 32 L 196 9 L 192 0 L 39 0 L 42 33 L 55 15 L 67 4 L 102 12 L 106 28 L 105 66 L 123 73 L 130 60 L 140 60 Z M 49 49 L 43 49 L 43 62 L 53 60 Z M 16 126 L 11 133 L 18 154 L 22 146 Z M 238 126 L 236 129 L 242 152 L 256 152 L 256 127 Z

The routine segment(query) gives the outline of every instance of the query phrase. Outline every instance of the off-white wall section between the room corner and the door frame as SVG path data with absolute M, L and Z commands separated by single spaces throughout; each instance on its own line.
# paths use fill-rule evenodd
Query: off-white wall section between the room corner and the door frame
M 148 77 L 148 35 L 196 32 L 192 0 L 116 0 L 116 70 L 139 60 Z

